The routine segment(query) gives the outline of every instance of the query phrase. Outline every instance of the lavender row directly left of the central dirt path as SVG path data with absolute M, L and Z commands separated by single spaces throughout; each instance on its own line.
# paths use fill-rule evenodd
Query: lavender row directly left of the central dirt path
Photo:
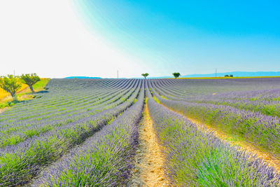
M 125 186 L 138 143 L 137 123 L 144 105 L 144 85 L 137 102 L 116 120 L 74 148 L 41 174 L 34 186 Z

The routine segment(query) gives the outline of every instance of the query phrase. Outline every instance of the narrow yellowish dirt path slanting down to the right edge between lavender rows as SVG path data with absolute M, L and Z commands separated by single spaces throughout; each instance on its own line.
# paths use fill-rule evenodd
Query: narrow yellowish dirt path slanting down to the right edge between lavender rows
M 162 106 L 165 106 L 165 105 L 162 104 Z M 209 130 L 209 131 L 213 132 L 214 136 L 218 137 L 222 141 L 225 141 L 225 142 L 231 144 L 232 146 L 238 146 L 240 151 L 251 152 L 252 155 L 256 155 L 257 158 L 259 158 L 261 160 L 264 160 L 267 163 L 267 165 L 269 165 L 271 167 L 274 167 L 276 172 L 278 172 L 280 174 L 280 160 L 275 158 L 273 155 L 271 155 L 271 154 L 269 154 L 265 151 L 260 150 L 259 148 L 257 148 L 256 146 L 253 146 L 252 144 L 248 144 L 246 141 L 237 140 L 234 137 L 232 137 L 230 134 L 222 132 L 218 128 L 213 127 L 212 125 L 202 123 L 199 120 L 195 120 L 193 118 L 190 118 L 189 116 L 185 116 L 183 113 L 179 113 L 177 111 L 174 111 L 173 109 L 170 109 L 167 106 L 165 106 L 165 107 L 167 109 L 169 109 L 170 111 L 178 113 L 181 116 L 187 118 L 192 123 L 195 123 L 197 125 L 197 127 L 205 127 L 206 130 Z

